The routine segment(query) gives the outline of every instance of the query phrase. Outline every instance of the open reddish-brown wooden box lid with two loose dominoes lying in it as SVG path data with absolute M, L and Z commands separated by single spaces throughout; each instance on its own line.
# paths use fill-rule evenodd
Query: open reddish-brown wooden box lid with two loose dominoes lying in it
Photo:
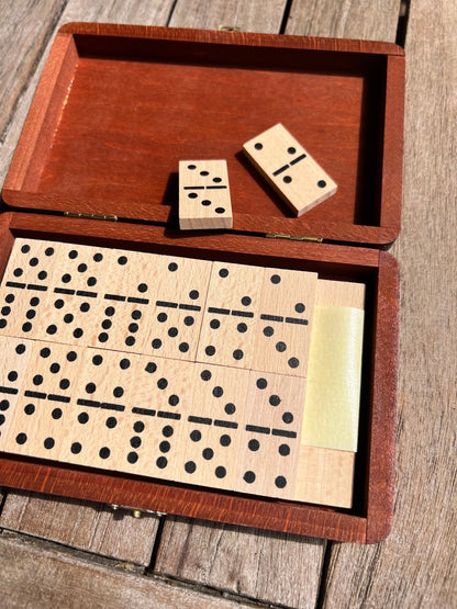
M 2 196 L 176 225 L 178 161 L 225 158 L 234 230 L 386 245 L 400 229 L 403 99 L 393 44 L 68 24 Z M 300 218 L 242 153 L 278 122 L 338 184 Z

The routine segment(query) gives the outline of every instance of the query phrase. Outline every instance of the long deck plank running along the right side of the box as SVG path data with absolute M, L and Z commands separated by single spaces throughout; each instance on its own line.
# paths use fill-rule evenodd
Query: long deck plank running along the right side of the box
M 454 557 L 457 8 L 411 3 L 406 32 L 397 499 L 379 546 L 335 545 L 324 606 L 456 607 Z

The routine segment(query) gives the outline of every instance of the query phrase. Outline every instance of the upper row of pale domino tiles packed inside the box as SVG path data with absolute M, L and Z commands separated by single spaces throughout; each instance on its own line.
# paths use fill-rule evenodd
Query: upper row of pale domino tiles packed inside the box
M 306 376 L 316 273 L 16 239 L 0 332 Z

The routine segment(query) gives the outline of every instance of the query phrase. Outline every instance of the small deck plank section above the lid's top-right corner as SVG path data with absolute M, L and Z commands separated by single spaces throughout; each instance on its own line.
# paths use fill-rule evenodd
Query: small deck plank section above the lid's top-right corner
M 286 34 L 394 42 L 400 0 L 293 0 Z

